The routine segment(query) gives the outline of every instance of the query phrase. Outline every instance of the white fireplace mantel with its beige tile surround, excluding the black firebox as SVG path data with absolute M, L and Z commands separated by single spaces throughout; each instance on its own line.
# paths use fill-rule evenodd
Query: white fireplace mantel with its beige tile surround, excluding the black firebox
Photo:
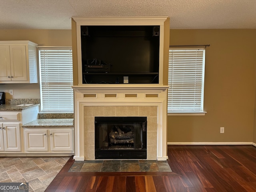
M 167 88 L 161 85 L 73 86 L 75 160 L 94 160 L 95 116 L 146 116 L 147 160 L 167 157 Z

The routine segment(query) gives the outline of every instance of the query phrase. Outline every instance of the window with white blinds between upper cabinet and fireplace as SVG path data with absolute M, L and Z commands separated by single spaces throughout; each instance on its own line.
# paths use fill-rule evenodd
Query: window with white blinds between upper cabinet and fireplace
M 72 113 L 71 48 L 39 48 L 41 112 Z

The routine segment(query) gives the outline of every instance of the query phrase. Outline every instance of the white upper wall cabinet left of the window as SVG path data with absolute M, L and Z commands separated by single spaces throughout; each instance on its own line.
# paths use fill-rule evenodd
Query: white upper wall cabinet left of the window
M 0 41 L 0 83 L 37 83 L 36 43 Z

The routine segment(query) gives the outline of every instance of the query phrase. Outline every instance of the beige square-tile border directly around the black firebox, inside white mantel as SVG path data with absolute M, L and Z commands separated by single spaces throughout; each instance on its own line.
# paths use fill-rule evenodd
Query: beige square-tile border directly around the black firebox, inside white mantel
M 157 107 L 156 106 L 86 106 L 84 107 L 84 152 L 88 159 L 94 159 L 94 117 L 95 116 L 146 116 L 147 158 L 156 158 Z

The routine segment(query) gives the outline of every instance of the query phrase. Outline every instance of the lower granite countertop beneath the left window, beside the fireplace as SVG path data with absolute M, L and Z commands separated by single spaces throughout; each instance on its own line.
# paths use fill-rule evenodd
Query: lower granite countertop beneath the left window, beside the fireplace
M 22 125 L 22 127 L 74 127 L 74 119 L 36 119 L 32 122 Z

